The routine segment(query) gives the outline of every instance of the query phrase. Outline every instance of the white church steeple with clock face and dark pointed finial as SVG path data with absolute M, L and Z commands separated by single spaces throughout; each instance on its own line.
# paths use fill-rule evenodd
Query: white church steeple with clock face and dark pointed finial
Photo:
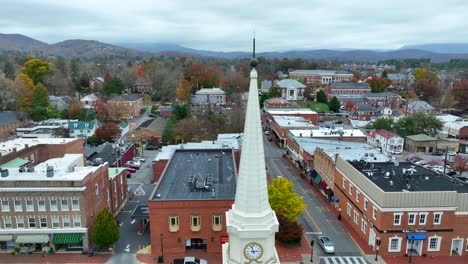
M 275 248 L 279 224 L 268 201 L 257 64 L 254 37 L 236 197 L 232 209 L 226 212 L 229 243 L 223 245 L 225 264 L 280 263 Z

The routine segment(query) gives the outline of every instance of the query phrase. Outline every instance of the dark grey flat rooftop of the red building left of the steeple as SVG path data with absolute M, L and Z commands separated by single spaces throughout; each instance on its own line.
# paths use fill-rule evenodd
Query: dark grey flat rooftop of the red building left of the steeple
M 153 200 L 226 200 L 236 193 L 231 149 L 177 149 Z

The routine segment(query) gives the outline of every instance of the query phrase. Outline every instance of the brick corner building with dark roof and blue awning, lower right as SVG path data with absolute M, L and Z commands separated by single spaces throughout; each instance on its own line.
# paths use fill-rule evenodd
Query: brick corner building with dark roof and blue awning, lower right
M 390 256 L 467 255 L 468 186 L 409 162 L 335 162 L 341 217 Z

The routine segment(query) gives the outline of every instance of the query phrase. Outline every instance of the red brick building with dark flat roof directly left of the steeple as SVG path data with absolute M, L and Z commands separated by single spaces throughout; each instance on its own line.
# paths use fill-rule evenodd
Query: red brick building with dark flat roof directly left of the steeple
M 236 175 L 231 148 L 177 146 L 148 201 L 152 254 L 221 253 L 224 212 L 234 202 Z

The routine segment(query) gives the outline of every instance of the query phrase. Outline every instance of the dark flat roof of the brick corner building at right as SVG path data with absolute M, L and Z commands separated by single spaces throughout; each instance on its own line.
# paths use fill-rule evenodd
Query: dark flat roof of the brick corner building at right
M 468 184 L 410 162 L 348 161 L 385 192 L 468 193 Z

